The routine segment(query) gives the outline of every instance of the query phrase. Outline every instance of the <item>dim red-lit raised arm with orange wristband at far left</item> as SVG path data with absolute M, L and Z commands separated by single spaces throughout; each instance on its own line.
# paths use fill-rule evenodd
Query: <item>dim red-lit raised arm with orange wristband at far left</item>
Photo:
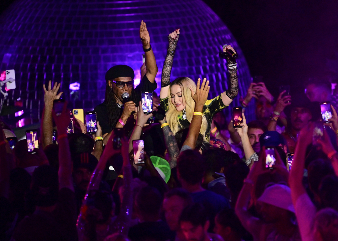
M 72 176 L 72 160 L 68 144 L 67 126 L 70 122 L 69 110 L 67 110 L 67 101 L 63 106 L 62 113 L 56 116 L 52 111 L 55 124 L 57 126 L 57 142 L 59 143 L 59 190 L 68 188 L 74 192 Z

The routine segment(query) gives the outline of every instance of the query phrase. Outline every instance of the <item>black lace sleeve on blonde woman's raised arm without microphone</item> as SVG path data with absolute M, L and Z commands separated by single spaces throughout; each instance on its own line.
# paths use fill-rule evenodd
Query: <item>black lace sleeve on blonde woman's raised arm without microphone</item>
M 167 56 L 163 64 L 161 87 L 166 87 L 170 85 L 170 73 L 171 73 L 172 62 L 174 59 L 175 49 L 177 46 L 178 39 L 179 39 L 179 34 L 177 34 L 177 38 L 175 39 L 172 39 L 168 35 L 169 47 L 167 49 Z

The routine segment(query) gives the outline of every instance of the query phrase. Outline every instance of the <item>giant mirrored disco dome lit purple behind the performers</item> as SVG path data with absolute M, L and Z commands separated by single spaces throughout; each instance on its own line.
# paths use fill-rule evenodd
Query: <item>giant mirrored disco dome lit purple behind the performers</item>
M 84 110 L 93 110 L 104 100 L 104 75 L 110 67 L 129 65 L 138 82 L 143 53 L 141 20 L 147 24 L 159 67 L 156 92 L 161 86 L 167 35 L 180 28 L 171 80 L 206 77 L 210 97 L 217 96 L 227 89 L 225 61 L 217 53 L 224 44 L 232 45 L 239 54 L 240 90 L 232 106 L 239 105 L 239 97 L 251 81 L 248 66 L 231 32 L 201 0 L 15 1 L 0 16 L 0 71 L 14 69 L 16 75 L 16 89 L 8 91 L 5 105 L 14 105 L 21 98 L 23 109 L 38 122 L 43 84 L 49 80 L 62 83 L 70 108 Z M 78 91 L 69 89 L 75 82 L 80 84 Z M 230 115 L 231 108 L 226 111 Z

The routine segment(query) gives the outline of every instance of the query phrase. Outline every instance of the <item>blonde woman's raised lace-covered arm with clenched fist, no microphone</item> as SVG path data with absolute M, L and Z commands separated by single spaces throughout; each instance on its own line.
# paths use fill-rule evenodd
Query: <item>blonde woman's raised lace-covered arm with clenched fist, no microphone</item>
M 174 60 L 175 49 L 179 39 L 179 29 L 176 29 L 168 35 L 169 47 L 167 49 L 167 56 L 163 63 L 162 77 L 161 77 L 161 92 L 160 98 L 164 99 L 168 97 L 168 90 L 170 85 L 170 73 L 172 68 L 172 62 Z

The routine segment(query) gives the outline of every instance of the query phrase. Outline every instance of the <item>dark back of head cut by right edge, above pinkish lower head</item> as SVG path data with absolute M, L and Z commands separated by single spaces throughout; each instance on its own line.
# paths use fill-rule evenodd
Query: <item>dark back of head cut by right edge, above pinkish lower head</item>
M 338 211 L 338 177 L 336 175 L 325 176 L 318 192 L 322 208 L 333 208 Z

